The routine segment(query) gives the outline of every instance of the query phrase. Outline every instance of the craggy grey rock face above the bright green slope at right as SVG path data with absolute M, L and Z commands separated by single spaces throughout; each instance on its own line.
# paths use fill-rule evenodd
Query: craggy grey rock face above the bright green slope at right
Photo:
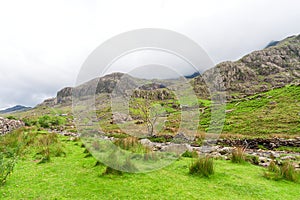
M 299 84 L 300 35 L 254 51 L 236 62 L 220 63 L 204 72 L 192 81 L 199 96 L 208 94 L 203 86 L 204 79 L 212 82 L 216 88 L 226 89 L 228 98 L 252 95 L 287 84 Z

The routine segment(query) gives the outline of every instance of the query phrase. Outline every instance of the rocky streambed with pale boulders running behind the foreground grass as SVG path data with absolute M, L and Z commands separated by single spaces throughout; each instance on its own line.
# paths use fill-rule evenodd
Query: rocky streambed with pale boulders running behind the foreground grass
M 72 138 L 79 137 L 76 133 L 60 133 Z M 100 134 L 101 135 L 101 134 Z M 170 136 L 168 136 L 170 137 Z M 99 139 L 114 141 L 117 138 L 101 135 Z M 294 139 L 270 138 L 270 139 L 217 139 L 204 140 L 202 145 L 190 141 L 183 134 L 168 139 L 172 142 L 152 142 L 149 139 L 140 139 L 141 144 L 151 148 L 153 151 L 178 151 L 197 152 L 198 155 L 209 155 L 216 159 L 229 160 L 232 152 L 237 148 L 244 150 L 245 157 L 253 160 L 253 164 L 267 167 L 273 160 L 277 164 L 291 161 L 297 170 L 300 170 L 300 152 L 279 151 L 279 147 L 293 147 L 300 150 L 300 137 Z M 264 149 L 261 149 L 264 148 Z M 251 160 L 250 160 L 251 161 Z

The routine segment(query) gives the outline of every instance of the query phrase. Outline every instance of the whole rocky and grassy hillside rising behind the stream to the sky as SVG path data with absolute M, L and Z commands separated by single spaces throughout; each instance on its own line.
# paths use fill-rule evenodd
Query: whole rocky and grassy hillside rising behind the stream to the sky
M 206 79 L 211 80 L 217 88 L 226 88 L 228 102 L 223 127 L 224 136 L 294 137 L 299 135 L 299 70 L 300 36 L 293 36 L 263 50 L 252 52 L 236 62 L 220 63 L 201 76 L 190 79 L 199 97 L 201 113 L 199 133 L 206 133 L 211 122 L 211 102 L 207 99 L 209 93 L 204 82 Z M 218 71 L 221 76 L 215 76 L 215 71 Z M 118 86 L 118 89 L 124 90 L 123 93 L 126 94 L 127 88 L 135 88 L 145 80 L 114 73 L 91 80 L 76 88 L 76 92 L 82 96 L 92 95 L 96 91 L 98 120 L 104 131 L 111 134 L 122 133 L 120 124 L 114 122 L 115 119 L 110 109 L 110 94 L 120 81 L 122 84 Z M 181 108 L 167 89 L 176 87 L 176 84 L 174 80 L 160 82 L 154 80 L 151 84 L 137 87 L 133 93 L 133 104 L 139 103 L 145 96 L 150 96 L 153 104 L 160 104 L 167 111 L 166 116 L 161 118 L 164 124 L 160 134 L 175 134 L 179 128 Z M 55 98 L 44 101 L 33 110 L 15 115 L 21 118 L 38 118 L 44 114 L 66 113 L 70 116 L 69 121 L 72 121 L 71 95 L 73 91 L 74 88 L 64 88 L 57 93 Z M 140 123 L 137 108 L 131 108 L 130 112 L 132 116 L 128 124 Z M 127 118 L 116 113 L 115 116 Z M 121 126 L 130 127 L 126 124 Z M 144 126 L 143 123 L 140 128 L 142 126 Z M 65 129 L 76 131 L 72 123 L 69 123 Z

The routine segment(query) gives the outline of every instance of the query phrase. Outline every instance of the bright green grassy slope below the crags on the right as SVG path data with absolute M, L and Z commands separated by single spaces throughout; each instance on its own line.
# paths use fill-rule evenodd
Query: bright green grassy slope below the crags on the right
M 286 86 L 227 103 L 223 134 L 245 137 L 299 136 L 300 86 Z M 207 130 L 210 109 L 200 116 L 200 130 Z

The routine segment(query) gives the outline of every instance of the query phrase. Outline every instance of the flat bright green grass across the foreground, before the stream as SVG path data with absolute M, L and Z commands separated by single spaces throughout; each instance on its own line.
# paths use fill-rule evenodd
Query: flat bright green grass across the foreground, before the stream
M 215 160 L 209 178 L 189 174 L 190 158 L 146 174 L 102 175 L 85 157 L 80 142 L 60 137 L 66 157 L 37 164 L 31 155 L 20 159 L 0 199 L 298 199 L 299 183 L 263 177 L 264 169 L 248 163 Z

